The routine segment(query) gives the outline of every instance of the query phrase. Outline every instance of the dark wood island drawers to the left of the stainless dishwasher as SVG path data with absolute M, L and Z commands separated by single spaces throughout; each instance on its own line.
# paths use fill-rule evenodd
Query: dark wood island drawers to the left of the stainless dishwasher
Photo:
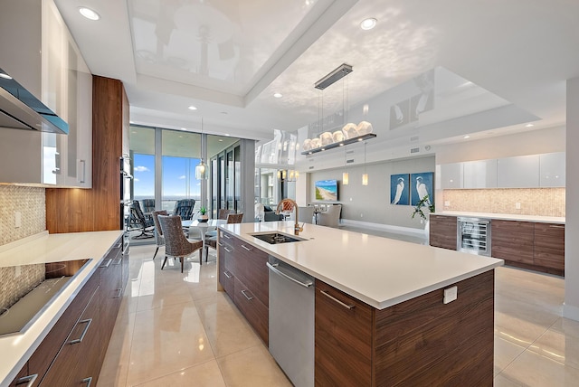
M 267 345 L 269 338 L 268 255 L 226 231 L 219 231 L 219 282 Z

